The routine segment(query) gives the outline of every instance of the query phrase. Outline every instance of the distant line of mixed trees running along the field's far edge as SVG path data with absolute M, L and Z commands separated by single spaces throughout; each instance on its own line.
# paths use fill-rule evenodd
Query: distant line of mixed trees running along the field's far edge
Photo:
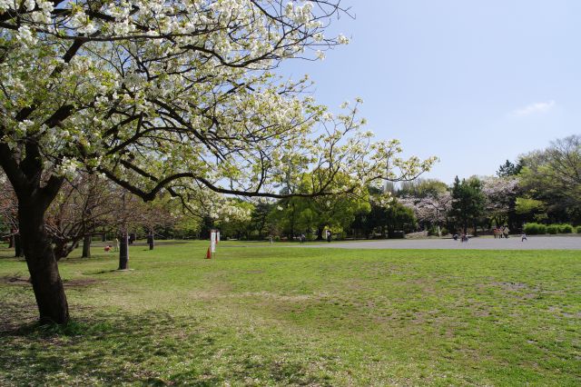
M 576 226 L 581 224 L 580 144 L 579 135 L 557 140 L 515 162 L 507 160 L 496 176 L 457 177 L 452 184 L 416 179 L 333 197 L 241 200 L 209 194 L 189 203 L 165 196 L 143 203 L 97 175 L 80 174 L 56 196 L 47 212 L 46 229 L 54 254 L 61 259 L 81 243 L 83 256 L 90 256 L 92 240 L 110 241 L 121 233 L 203 239 L 219 228 L 224 238 L 296 240 L 304 235 L 322 240 L 328 230 L 341 239 L 393 238 L 419 231 L 478 234 L 499 226 L 519 232 L 526 223 L 532 224 L 530 230 L 545 230 L 534 224 Z M 300 192 L 312 178 L 287 182 L 281 190 Z M 15 194 L 3 176 L 0 184 L 0 234 L 21 256 Z

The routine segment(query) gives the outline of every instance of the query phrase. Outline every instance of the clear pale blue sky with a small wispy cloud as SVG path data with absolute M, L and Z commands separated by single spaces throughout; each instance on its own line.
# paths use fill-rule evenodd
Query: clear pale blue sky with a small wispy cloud
M 379 138 L 437 155 L 428 177 L 494 174 L 506 159 L 581 133 L 581 1 L 343 0 L 351 44 L 310 74 L 335 110 L 360 96 Z

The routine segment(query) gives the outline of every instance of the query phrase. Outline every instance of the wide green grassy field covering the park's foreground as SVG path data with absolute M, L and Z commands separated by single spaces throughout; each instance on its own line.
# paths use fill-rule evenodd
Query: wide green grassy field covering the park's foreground
M 67 259 L 61 330 L 0 249 L 0 385 L 581 384 L 581 252 L 240 245 Z

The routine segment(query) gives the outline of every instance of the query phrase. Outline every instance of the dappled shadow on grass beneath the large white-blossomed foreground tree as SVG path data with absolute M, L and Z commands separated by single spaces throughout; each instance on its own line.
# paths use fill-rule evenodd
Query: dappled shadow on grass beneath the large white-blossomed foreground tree
M 75 307 L 67 326 L 41 326 L 34 303 L 18 296 L 0 300 L 0 311 L 0 385 L 328 384 L 301 362 L 253 360 L 251 342 L 240 349 L 227 328 L 196 317 Z

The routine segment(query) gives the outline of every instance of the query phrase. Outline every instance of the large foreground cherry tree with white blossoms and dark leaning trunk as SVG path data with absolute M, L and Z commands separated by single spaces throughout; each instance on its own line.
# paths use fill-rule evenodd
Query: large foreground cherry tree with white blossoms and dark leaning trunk
M 357 104 L 332 115 L 301 93 L 307 79 L 273 73 L 348 43 L 324 35 L 344 12 L 339 0 L 0 0 L 0 165 L 42 323 L 69 320 L 44 213 L 79 170 L 187 202 L 205 189 L 356 193 L 428 169 L 373 143 Z M 309 192 L 277 190 L 307 173 Z M 338 174 L 349 183 L 331 184 Z

